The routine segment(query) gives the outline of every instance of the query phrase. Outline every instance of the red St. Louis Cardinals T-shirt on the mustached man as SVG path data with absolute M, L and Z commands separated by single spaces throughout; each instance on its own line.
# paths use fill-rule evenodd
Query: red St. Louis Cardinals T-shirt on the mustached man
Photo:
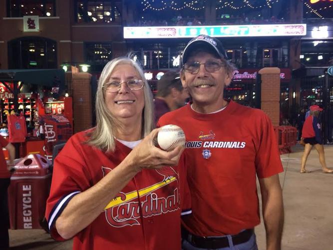
M 185 151 L 192 214 L 182 218 L 193 234 L 236 234 L 260 223 L 256 174 L 283 171 L 274 128 L 259 109 L 234 101 L 211 114 L 190 104 L 163 115 L 158 126 L 176 124 L 186 136 Z

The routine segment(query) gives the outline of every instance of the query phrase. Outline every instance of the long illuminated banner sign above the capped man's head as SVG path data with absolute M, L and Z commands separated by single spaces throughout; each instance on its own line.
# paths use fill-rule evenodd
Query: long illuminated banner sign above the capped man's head
M 307 24 L 124 27 L 124 38 L 180 38 L 306 35 Z

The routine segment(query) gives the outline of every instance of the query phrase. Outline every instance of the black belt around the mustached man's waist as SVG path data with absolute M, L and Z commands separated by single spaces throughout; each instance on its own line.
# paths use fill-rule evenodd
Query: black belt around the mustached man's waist
M 234 245 L 242 244 L 248 241 L 254 233 L 254 229 L 246 229 L 238 234 L 231 235 Z M 182 228 L 183 239 L 188 240 L 193 246 L 199 248 L 217 249 L 223 247 L 230 247 L 229 240 L 227 236 L 221 237 L 201 237 L 194 235 Z

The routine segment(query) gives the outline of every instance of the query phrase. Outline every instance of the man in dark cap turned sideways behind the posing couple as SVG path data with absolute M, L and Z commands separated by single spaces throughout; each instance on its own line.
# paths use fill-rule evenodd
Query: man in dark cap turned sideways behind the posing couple
M 155 121 L 162 114 L 184 106 L 188 97 L 188 91 L 182 86 L 179 72 L 166 72 L 157 82 L 157 94 L 154 100 Z

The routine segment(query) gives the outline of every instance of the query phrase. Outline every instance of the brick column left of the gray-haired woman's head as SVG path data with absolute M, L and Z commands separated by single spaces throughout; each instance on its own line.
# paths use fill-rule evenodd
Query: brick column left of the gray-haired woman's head
M 74 133 L 92 127 L 91 74 L 73 73 L 73 118 Z

